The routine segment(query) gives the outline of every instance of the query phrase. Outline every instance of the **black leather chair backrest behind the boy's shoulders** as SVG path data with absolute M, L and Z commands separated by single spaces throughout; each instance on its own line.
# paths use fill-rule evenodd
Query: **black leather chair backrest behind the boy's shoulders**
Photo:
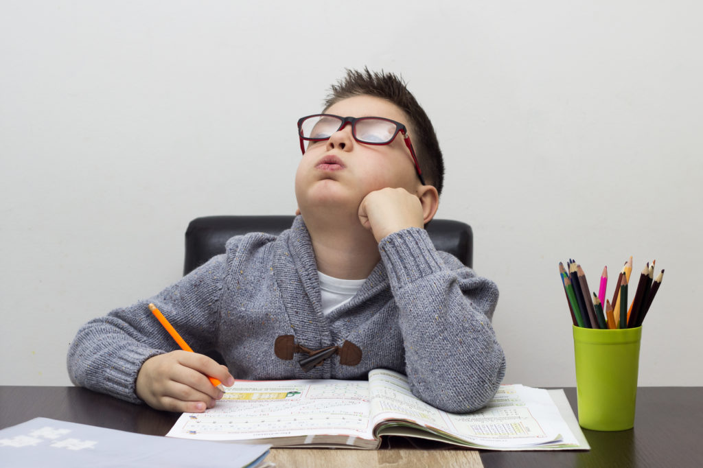
M 187 275 L 217 254 L 224 254 L 225 242 L 235 235 L 269 233 L 278 235 L 290 228 L 294 216 L 204 216 L 188 224 L 186 230 Z M 466 266 L 472 266 L 473 233 L 471 226 L 451 219 L 434 219 L 427 233 L 437 250 L 456 256 Z

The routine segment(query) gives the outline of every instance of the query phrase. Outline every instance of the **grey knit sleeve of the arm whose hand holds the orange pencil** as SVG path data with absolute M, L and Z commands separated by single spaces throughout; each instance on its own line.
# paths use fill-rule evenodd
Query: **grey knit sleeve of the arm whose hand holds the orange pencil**
M 157 354 L 179 349 L 149 311 L 153 302 L 191 348 L 214 347 L 226 255 L 216 256 L 159 294 L 117 308 L 80 328 L 70 344 L 67 365 L 72 382 L 132 403 L 141 365 Z

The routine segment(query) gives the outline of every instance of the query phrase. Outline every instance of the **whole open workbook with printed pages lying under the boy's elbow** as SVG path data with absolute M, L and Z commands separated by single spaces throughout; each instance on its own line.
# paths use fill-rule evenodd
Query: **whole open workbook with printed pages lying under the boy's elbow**
M 237 381 L 214 408 L 183 413 L 167 436 L 373 449 L 393 435 L 489 450 L 588 449 L 561 390 L 503 385 L 486 408 L 452 414 L 413 396 L 404 375 L 377 369 L 368 377 Z

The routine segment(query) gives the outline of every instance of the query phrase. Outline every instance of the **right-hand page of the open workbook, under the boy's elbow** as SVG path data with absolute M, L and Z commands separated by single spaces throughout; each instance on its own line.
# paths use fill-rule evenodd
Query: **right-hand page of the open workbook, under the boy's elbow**
M 397 372 L 373 370 L 369 373 L 369 384 L 374 425 L 388 420 L 409 420 L 454 441 L 486 448 L 579 446 L 552 398 L 543 389 L 501 385 L 482 410 L 453 414 L 420 401 L 412 394 L 407 377 Z M 384 430 L 382 434 L 392 434 L 394 430 Z M 413 435 L 422 436 L 415 432 Z

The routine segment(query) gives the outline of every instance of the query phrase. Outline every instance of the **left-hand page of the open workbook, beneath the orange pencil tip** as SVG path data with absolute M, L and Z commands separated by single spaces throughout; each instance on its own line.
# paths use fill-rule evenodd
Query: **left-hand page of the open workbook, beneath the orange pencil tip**
M 238 380 L 214 408 L 184 412 L 167 436 L 209 441 L 269 441 L 343 436 L 373 441 L 368 382 L 359 380 Z

